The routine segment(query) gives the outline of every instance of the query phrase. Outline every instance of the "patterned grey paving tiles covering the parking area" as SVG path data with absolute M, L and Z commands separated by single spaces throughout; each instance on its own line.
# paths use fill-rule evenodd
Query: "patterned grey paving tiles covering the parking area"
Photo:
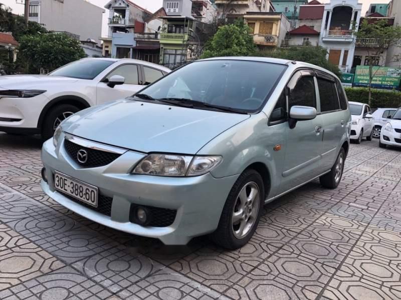
M 0 299 L 401 299 L 401 150 L 352 144 L 340 186 L 265 206 L 237 251 L 163 246 L 41 191 L 40 142 L 0 133 Z

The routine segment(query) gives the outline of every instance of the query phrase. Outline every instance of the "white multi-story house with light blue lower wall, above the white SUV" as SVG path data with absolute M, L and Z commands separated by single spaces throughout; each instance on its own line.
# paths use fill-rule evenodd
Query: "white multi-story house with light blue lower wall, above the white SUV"
M 144 32 L 145 19 L 153 13 L 129 0 L 110 0 L 104 7 L 109 9 L 109 38 L 103 39 L 104 46 L 111 46 L 111 57 L 133 57 L 133 48 L 136 46 L 134 34 Z

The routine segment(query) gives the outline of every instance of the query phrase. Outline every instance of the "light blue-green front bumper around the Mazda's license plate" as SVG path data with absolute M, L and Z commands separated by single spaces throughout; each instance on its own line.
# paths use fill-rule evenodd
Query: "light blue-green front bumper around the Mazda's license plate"
M 186 244 L 194 236 L 213 232 L 239 175 L 215 178 L 210 173 L 195 177 L 130 174 L 132 166 L 143 156 L 127 151 L 108 165 L 84 168 L 71 159 L 64 142 L 55 149 L 52 140 L 48 140 L 42 148 L 48 182 L 42 180 L 41 186 L 51 198 L 88 219 L 128 233 L 158 238 L 165 244 Z M 95 185 L 99 193 L 112 197 L 111 215 L 96 212 L 56 191 L 55 170 Z M 131 204 L 176 209 L 177 213 L 167 227 L 142 226 L 129 221 Z

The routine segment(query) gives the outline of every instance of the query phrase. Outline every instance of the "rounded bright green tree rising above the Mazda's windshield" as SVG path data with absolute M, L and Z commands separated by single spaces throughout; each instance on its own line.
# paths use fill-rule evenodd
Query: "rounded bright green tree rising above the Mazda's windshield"
M 206 45 L 202 58 L 216 56 L 248 56 L 256 50 L 250 28 L 243 19 L 221 26 Z

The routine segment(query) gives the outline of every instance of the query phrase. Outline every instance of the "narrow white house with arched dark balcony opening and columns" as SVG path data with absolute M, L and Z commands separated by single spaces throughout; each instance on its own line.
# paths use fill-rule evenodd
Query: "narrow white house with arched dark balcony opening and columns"
M 362 4 L 358 0 L 331 0 L 324 5 L 319 44 L 328 51 L 328 60 L 348 72 L 355 50 L 354 28 L 358 28 Z

